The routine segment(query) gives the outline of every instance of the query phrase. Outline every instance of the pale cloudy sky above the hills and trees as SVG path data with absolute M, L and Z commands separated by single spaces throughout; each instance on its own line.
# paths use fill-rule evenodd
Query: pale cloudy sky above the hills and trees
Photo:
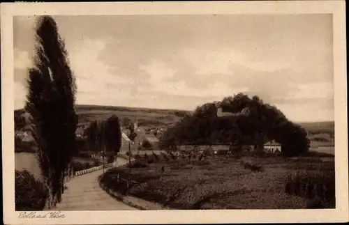
M 292 121 L 334 121 L 332 15 L 54 16 L 77 104 L 193 110 L 243 92 Z M 13 18 L 15 108 L 36 17 Z

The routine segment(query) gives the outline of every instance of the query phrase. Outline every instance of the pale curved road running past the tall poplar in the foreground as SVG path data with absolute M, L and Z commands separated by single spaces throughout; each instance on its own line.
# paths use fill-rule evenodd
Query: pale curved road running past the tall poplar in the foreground
M 126 160 L 118 158 L 117 166 L 122 164 Z M 138 210 L 117 201 L 99 186 L 98 176 L 102 173 L 103 169 L 68 181 L 62 202 L 54 210 Z

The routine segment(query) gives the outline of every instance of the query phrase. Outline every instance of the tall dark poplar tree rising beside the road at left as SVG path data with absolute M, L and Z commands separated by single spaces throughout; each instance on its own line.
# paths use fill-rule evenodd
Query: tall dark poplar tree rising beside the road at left
M 76 147 L 76 86 L 64 41 L 52 17 L 38 20 L 36 42 L 25 110 L 32 116 L 38 162 L 50 190 L 48 203 L 54 206 L 61 201 L 64 171 Z

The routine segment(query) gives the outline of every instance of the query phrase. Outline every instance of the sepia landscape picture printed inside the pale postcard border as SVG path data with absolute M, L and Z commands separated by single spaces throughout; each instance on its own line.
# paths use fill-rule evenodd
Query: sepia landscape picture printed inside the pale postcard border
M 334 14 L 159 13 L 13 15 L 17 218 L 339 209 Z

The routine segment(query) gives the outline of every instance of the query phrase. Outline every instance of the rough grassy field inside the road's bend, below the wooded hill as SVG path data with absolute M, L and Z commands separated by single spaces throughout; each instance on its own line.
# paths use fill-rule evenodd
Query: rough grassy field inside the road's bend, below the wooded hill
M 242 161 L 249 160 L 260 164 L 262 171 L 242 166 Z M 296 158 L 285 162 L 281 157 L 258 160 L 244 157 L 242 161 L 224 156 L 210 156 L 201 161 L 198 158 L 172 160 L 167 157 L 167 160 L 160 158 L 158 162 L 147 164 L 140 159 L 134 166 L 139 168 L 133 168 L 131 174 L 131 179 L 140 184 L 134 184 L 129 194 L 177 209 L 309 208 L 313 203 L 311 198 L 285 192 L 288 177 L 298 173 L 310 180 L 322 176 L 334 179 L 333 158 Z M 121 178 L 127 178 L 128 169 L 111 169 L 103 177 L 103 182 L 125 193 L 125 184 L 117 183 L 113 178 L 117 173 Z M 327 188 L 334 188 L 334 183 Z M 333 201 L 326 204 L 322 207 L 334 207 Z

